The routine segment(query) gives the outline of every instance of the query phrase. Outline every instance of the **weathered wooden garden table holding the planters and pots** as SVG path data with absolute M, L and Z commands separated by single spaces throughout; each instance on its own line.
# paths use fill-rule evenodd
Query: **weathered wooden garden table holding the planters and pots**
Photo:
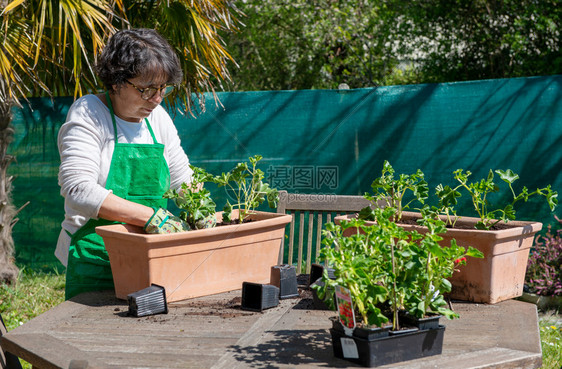
M 333 356 L 328 318 L 310 299 L 281 300 L 263 312 L 240 309 L 234 291 L 169 304 L 135 318 L 112 292 L 76 296 L 8 332 L 0 343 L 37 368 L 344 368 Z M 454 302 L 443 353 L 393 368 L 538 368 L 533 304 Z M 442 319 L 443 320 L 443 319 Z

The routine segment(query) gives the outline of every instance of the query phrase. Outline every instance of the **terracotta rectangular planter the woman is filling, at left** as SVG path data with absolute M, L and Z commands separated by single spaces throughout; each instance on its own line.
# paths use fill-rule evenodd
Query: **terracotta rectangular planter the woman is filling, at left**
M 222 213 L 216 216 L 222 220 Z M 269 283 L 291 216 L 255 212 L 250 219 L 173 234 L 146 234 L 126 224 L 97 227 L 117 298 L 153 283 L 166 289 L 168 302 L 241 289 L 243 282 Z

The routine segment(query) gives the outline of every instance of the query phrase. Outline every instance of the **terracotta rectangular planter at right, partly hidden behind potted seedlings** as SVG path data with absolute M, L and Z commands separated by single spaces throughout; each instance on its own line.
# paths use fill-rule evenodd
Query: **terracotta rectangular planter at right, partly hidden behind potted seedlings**
M 335 220 L 350 218 L 336 217 Z M 419 213 L 404 212 L 404 219 L 418 219 Z M 542 223 L 511 221 L 510 228 L 486 231 L 474 229 L 478 218 L 461 217 L 456 224 L 466 229 L 449 228 L 442 245 L 450 245 L 455 239 L 460 246 L 472 246 L 484 254 L 483 259 L 468 258 L 449 281 L 453 285 L 452 299 L 494 304 L 523 294 L 525 271 L 529 251 L 535 234 Z M 407 231 L 425 232 L 425 227 L 401 224 Z

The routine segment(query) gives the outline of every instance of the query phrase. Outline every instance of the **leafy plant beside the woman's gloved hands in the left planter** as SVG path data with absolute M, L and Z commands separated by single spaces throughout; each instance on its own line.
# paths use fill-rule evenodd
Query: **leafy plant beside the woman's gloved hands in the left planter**
M 191 183 L 182 183 L 179 191 L 170 189 L 164 194 L 164 198 L 172 199 L 176 206 L 181 209 L 182 218 L 191 229 L 202 229 L 213 227 L 216 223 L 216 204 L 211 198 L 211 193 L 204 187 L 205 182 L 214 180 L 214 176 L 207 173 L 203 168 L 190 165 L 193 170 Z

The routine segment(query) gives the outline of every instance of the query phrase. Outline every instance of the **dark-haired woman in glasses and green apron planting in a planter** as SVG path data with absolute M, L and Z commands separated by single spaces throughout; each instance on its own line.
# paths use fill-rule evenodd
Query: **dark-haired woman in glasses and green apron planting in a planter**
M 162 198 L 192 174 L 160 106 L 182 80 L 177 55 L 154 30 L 124 30 L 109 40 L 96 71 L 107 91 L 76 100 L 58 136 L 65 219 L 55 255 L 67 266 L 67 299 L 113 288 L 96 226 L 124 222 L 150 233 L 188 229 L 164 209 Z

